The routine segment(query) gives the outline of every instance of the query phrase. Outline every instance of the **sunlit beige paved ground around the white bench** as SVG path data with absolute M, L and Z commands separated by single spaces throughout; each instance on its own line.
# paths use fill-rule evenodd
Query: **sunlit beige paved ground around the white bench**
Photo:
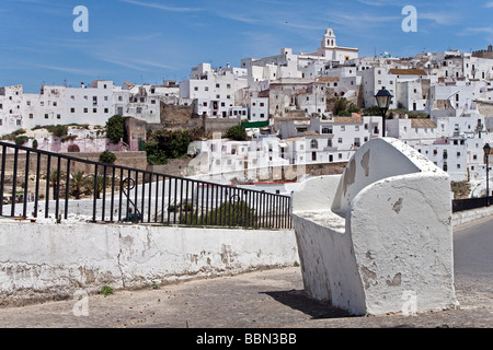
M 456 230 L 455 237 L 467 236 L 469 229 L 470 225 L 465 225 Z M 456 273 L 459 310 L 415 316 L 349 317 L 341 310 L 308 299 L 300 268 L 289 267 L 162 285 L 154 290 L 116 291 L 106 298 L 90 295 L 81 301 L 0 308 L 0 327 L 491 328 L 492 287 L 491 273 L 474 275 L 465 270 Z M 76 316 L 74 307 L 76 314 L 87 311 L 88 315 Z

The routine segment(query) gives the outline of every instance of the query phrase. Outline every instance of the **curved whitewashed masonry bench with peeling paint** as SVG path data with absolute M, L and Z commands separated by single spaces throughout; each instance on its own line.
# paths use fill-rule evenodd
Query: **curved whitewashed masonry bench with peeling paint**
M 448 175 L 404 143 L 365 143 L 294 194 L 305 289 L 355 315 L 456 307 Z

